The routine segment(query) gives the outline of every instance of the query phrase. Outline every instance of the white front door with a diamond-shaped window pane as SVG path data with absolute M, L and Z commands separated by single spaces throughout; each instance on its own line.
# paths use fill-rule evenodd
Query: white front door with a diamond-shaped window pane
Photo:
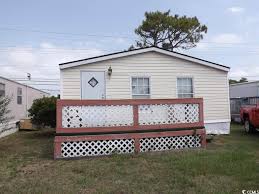
M 104 72 L 81 72 L 81 99 L 105 99 Z

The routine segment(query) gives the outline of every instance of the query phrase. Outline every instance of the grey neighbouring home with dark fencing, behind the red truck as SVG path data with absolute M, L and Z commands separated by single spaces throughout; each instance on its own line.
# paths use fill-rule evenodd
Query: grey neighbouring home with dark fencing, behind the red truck
M 239 122 L 241 106 L 259 103 L 259 81 L 231 84 L 229 95 L 231 119 Z

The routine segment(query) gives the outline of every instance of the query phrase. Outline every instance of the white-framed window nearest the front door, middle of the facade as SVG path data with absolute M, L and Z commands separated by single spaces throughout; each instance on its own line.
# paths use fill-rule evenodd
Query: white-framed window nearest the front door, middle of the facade
M 150 81 L 148 77 L 133 77 L 131 79 L 132 98 L 149 98 Z

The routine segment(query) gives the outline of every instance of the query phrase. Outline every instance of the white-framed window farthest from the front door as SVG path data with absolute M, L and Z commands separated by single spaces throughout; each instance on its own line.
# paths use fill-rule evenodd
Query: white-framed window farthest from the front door
M 193 80 L 192 78 L 177 78 L 177 94 L 178 98 L 193 97 Z

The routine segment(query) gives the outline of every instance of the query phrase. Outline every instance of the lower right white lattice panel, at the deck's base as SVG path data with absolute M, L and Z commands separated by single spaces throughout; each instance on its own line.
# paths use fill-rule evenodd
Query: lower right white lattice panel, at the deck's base
M 140 139 L 140 152 L 201 147 L 200 135 L 154 137 Z

